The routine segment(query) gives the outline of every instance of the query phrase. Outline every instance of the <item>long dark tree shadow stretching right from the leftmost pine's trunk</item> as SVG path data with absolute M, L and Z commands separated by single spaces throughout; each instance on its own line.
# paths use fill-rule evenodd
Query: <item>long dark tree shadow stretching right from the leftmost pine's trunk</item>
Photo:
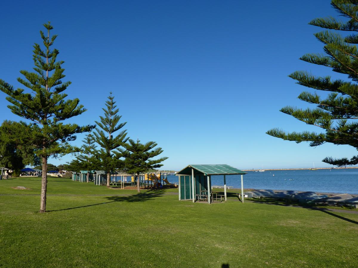
M 110 200 L 108 202 L 84 205 L 84 206 L 73 207 L 73 208 L 47 210 L 47 212 L 69 210 L 69 209 L 75 209 L 75 208 L 86 208 L 86 207 L 92 207 L 95 205 L 102 205 L 102 204 L 108 204 L 108 203 L 113 203 L 113 202 L 145 202 L 145 201 L 151 200 L 156 197 L 161 197 L 161 196 L 163 196 L 163 193 L 164 193 L 163 190 L 149 190 L 145 193 L 132 194 L 132 195 L 127 195 L 127 196 L 109 196 L 109 197 L 106 197 L 107 200 Z

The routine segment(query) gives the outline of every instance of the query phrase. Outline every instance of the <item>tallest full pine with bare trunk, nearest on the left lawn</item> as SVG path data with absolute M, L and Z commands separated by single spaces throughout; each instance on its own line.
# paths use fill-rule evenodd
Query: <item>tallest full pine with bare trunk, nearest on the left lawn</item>
M 23 125 L 30 126 L 29 142 L 37 148 L 35 153 L 42 159 L 40 213 L 46 211 L 47 159 L 50 156 L 64 155 L 78 150 L 68 142 L 76 139 L 74 134 L 88 132 L 94 128 L 92 125 L 79 126 L 62 122 L 82 114 L 86 109 L 79 104 L 79 99 L 65 100 L 67 94 L 63 91 L 71 82 L 61 80 L 65 75 L 61 66 L 64 61 L 56 62 L 59 51 L 57 49 L 50 51 L 50 46 L 53 45 L 57 35 L 50 37 L 50 30 L 53 29 L 50 22 L 44 24 L 44 27 L 47 35 L 42 31 L 40 35 L 45 50 L 42 50 L 39 44 L 34 44 L 33 69 L 36 73 L 21 70 L 20 73 L 26 80 L 17 79 L 32 92 L 24 93 L 24 89 L 14 89 L 10 84 L 0 80 L 0 90 L 8 95 L 6 100 L 12 104 L 8 105 L 8 108 L 14 114 L 33 122 Z

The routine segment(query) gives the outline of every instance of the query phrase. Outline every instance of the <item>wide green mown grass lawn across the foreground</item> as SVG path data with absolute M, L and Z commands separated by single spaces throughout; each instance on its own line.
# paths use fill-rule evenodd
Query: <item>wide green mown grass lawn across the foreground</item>
M 12 187 L 24 186 L 30 190 Z M 176 189 L 0 180 L 0 267 L 357 267 L 358 215 L 179 201 Z

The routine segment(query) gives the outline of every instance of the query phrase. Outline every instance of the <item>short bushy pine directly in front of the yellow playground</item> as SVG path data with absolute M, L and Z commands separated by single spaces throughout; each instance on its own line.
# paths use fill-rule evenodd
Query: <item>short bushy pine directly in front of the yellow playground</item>
M 147 172 L 149 169 L 162 167 L 163 164 L 160 163 L 168 159 L 168 157 L 162 157 L 156 160 L 151 159 L 163 153 L 160 147 L 153 149 L 158 145 L 156 142 L 142 144 L 138 139 L 136 142 L 129 139 L 128 142 L 129 143 L 123 145 L 125 150 L 120 149 L 120 156 L 125 158 L 124 164 L 126 172 L 137 174 L 137 190 L 138 193 L 140 193 L 139 174 Z

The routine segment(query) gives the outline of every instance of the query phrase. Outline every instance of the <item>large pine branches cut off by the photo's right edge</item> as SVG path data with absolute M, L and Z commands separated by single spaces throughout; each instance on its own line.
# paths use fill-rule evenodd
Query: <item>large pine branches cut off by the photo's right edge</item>
M 345 21 L 335 18 L 319 18 L 309 24 L 325 29 L 352 31 L 353 34 L 342 36 L 337 31 L 321 31 L 316 38 L 324 44 L 325 54 L 306 54 L 300 59 L 308 63 L 323 65 L 333 71 L 346 74 L 351 81 L 332 79 L 330 76 L 315 76 L 307 71 L 296 71 L 289 77 L 297 80 L 297 84 L 315 90 L 328 92 L 326 98 L 321 98 L 317 92 L 302 92 L 298 98 L 310 104 L 315 109 L 299 109 L 286 106 L 280 111 L 309 125 L 318 126 L 324 132 L 316 133 L 303 131 L 287 133 L 282 129 L 271 129 L 267 134 L 291 140 L 297 143 L 310 142 L 314 147 L 323 143 L 348 144 L 358 149 L 358 1 L 333 0 L 331 5 Z M 351 159 L 334 159 L 326 157 L 322 160 L 332 165 L 358 164 L 358 157 Z

